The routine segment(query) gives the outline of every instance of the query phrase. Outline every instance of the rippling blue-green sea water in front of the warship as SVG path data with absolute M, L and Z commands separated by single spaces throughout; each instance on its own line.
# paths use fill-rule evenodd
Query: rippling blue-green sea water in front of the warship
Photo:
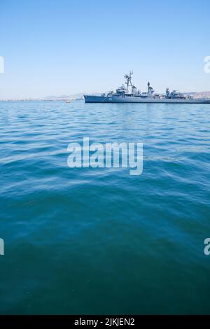
M 67 146 L 143 142 L 144 170 Z M 0 102 L 0 314 L 210 314 L 210 106 Z

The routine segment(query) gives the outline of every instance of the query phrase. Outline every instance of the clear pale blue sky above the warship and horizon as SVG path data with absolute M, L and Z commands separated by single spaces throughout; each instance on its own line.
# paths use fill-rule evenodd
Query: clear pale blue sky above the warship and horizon
M 209 0 L 0 0 L 0 99 L 107 91 L 130 69 L 141 90 L 210 90 L 209 13 Z

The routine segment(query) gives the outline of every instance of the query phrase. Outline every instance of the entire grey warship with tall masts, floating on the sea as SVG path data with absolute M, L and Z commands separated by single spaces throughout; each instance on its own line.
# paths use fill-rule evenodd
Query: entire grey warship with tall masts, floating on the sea
M 141 92 L 132 84 L 132 74 L 125 74 L 125 85 L 121 85 L 116 92 L 107 92 L 101 95 L 84 94 L 85 103 L 181 103 L 181 104 L 210 104 L 210 99 L 194 98 L 177 90 L 165 94 L 156 94 L 148 82 L 147 92 Z

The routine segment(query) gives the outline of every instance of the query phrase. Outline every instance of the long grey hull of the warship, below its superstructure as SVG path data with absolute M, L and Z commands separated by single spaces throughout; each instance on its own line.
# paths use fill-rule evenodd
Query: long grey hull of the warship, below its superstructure
M 170 103 L 170 104 L 210 104 L 210 99 L 158 99 L 158 98 L 143 98 L 143 97 L 119 97 L 112 95 L 94 96 L 84 95 L 85 103 Z

